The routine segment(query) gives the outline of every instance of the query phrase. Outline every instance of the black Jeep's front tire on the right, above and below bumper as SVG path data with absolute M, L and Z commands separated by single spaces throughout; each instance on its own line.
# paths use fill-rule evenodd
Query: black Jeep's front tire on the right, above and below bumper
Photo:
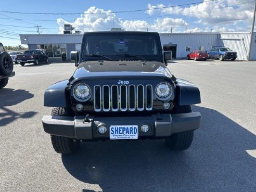
M 175 106 L 173 113 L 188 113 L 192 112 L 190 105 Z M 182 133 L 176 133 L 169 137 L 165 137 L 167 146 L 172 150 L 186 150 L 188 149 L 194 138 L 194 131 L 187 131 Z

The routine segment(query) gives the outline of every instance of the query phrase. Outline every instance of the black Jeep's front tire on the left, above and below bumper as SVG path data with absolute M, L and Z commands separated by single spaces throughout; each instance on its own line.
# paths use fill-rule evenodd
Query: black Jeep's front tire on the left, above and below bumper
M 69 112 L 62 107 L 54 107 L 52 110 L 52 116 L 69 116 Z M 80 140 L 73 138 L 50 135 L 52 145 L 57 153 L 71 154 L 79 149 Z

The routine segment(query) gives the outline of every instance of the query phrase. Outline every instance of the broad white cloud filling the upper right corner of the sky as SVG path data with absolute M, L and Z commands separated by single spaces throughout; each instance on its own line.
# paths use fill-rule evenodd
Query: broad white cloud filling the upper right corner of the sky
M 148 8 L 160 8 L 166 7 L 165 5 L 148 5 Z M 237 24 L 244 22 L 244 25 L 249 25 L 253 17 L 254 2 L 245 2 L 244 0 L 216 0 L 207 2 L 204 0 L 203 3 L 197 5 L 191 5 L 188 7 L 170 7 L 163 9 L 156 9 L 150 12 L 152 16 L 154 14 L 163 14 L 175 16 L 183 16 L 186 18 L 194 18 L 194 23 L 202 25 L 216 25 L 216 24 Z M 148 13 L 149 14 L 149 13 Z M 189 23 L 193 24 L 193 23 Z M 233 31 L 226 27 L 219 28 L 221 30 Z M 234 29 L 234 28 L 233 28 Z M 187 31 L 187 30 L 186 30 Z

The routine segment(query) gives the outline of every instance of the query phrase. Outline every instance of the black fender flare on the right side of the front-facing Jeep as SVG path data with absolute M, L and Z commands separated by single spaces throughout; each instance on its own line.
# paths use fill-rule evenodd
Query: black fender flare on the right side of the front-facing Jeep
M 200 91 L 193 83 L 189 81 L 177 79 L 176 80 L 176 97 L 175 103 L 177 105 L 194 105 L 201 103 Z

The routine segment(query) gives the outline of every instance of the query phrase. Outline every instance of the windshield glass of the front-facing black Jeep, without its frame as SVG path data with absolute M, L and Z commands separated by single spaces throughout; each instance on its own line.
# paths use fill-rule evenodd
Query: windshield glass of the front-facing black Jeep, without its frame
M 145 57 L 159 57 L 160 53 L 158 39 L 151 34 L 89 34 L 86 36 L 83 49 L 83 56 L 88 55 L 108 56 L 111 59 L 120 59 L 120 56 L 123 56 L 127 59 L 141 60 Z M 97 58 L 86 58 L 93 59 Z

